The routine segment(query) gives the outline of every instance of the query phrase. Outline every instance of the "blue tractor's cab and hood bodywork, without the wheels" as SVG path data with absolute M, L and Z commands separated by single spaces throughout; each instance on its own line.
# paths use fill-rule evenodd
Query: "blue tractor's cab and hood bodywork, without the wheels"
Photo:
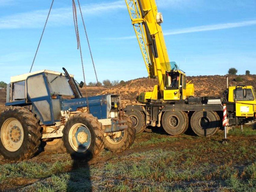
M 64 71 L 43 70 L 11 77 L 5 105 L 30 107 L 44 125 L 61 121 L 64 112 L 86 110 L 87 98 L 82 97 L 74 75 Z M 90 113 L 98 119 L 117 118 L 120 102 L 117 95 L 88 97 Z

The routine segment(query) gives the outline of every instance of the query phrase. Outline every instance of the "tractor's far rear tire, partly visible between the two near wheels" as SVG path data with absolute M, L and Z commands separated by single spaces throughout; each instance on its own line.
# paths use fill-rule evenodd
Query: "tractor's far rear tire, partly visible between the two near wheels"
M 53 139 L 52 141 L 46 141 L 44 151 L 49 153 L 66 153 L 67 150 L 64 146 L 64 142 L 61 138 Z

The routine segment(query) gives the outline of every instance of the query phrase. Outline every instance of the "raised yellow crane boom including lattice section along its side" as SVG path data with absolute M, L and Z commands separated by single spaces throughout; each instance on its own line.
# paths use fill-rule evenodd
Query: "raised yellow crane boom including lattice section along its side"
M 162 14 L 155 0 L 125 0 L 149 77 L 158 77 L 163 96 L 164 76 L 170 61 L 164 41 Z

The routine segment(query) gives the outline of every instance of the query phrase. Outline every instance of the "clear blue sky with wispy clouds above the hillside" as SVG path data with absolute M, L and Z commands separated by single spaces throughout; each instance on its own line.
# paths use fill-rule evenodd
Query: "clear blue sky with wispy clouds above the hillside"
M 100 81 L 146 77 L 125 0 L 80 0 Z M 27 73 L 51 0 L 0 0 L 1 79 Z M 256 74 L 255 0 L 157 0 L 171 61 L 188 76 L 224 75 L 230 67 Z M 87 82 L 95 81 L 84 36 Z M 82 80 L 71 0 L 55 0 L 32 71 L 65 67 Z

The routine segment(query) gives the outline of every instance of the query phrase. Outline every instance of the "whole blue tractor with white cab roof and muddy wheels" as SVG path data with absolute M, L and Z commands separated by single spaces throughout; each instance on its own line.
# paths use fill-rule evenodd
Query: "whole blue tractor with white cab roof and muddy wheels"
M 11 77 L 8 106 L 0 114 L 0 153 L 7 159 L 32 157 L 40 143 L 49 152 L 91 159 L 105 147 L 129 148 L 135 139 L 119 95 L 83 97 L 73 75 L 43 70 Z M 83 87 L 83 82 L 79 87 Z

